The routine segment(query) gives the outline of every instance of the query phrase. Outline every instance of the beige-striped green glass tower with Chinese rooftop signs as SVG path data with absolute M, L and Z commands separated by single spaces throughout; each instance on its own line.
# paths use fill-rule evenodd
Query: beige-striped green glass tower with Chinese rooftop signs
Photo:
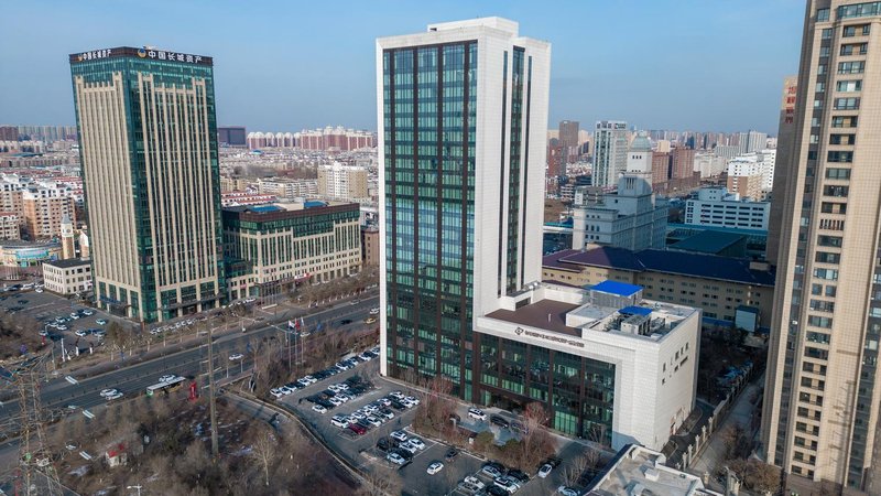
M 225 294 L 210 57 L 70 55 L 97 302 L 145 322 Z

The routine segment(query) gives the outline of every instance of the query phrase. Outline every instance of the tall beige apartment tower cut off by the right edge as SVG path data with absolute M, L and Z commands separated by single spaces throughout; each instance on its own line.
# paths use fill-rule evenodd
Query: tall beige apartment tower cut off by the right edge
M 881 2 L 809 0 L 796 87 L 762 451 L 881 494 Z

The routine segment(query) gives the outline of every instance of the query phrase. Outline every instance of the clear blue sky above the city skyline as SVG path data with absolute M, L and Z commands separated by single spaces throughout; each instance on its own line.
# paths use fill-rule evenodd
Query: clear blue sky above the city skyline
M 552 43 L 551 128 L 776 134 L 804 11 L 804 0 L 9 1 L 0 123 L 73 125 L 67 54 L 149 44 L 214 56 L 221 126 L 376 129 L 377 36 L 500 15 Z

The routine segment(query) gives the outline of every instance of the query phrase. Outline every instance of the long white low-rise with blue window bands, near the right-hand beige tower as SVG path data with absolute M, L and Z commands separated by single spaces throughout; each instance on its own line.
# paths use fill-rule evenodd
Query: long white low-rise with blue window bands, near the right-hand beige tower
M 740 200 L 725 187 L 703 187 L 685 202 L 685 224 L 768 230 L 769 202 Z

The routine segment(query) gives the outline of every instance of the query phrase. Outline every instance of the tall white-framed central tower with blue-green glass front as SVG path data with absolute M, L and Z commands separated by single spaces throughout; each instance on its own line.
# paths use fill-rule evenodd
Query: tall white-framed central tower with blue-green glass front
M 382 374 L 475 400 L 475 316 L 541 279 L 550 55 L 499 18 L 377 41 Z

